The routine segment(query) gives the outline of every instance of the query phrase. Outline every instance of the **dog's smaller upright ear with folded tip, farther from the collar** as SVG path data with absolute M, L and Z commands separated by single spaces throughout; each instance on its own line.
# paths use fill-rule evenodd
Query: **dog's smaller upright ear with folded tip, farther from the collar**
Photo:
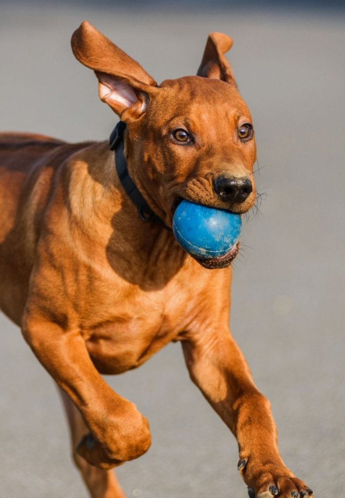
M 197 76 L 215 78 L 235 84 L 231 66 L 224 57 L 225 52 L 232 47 L 232 38 L 224 33 L 210 33 L 207 38 Z

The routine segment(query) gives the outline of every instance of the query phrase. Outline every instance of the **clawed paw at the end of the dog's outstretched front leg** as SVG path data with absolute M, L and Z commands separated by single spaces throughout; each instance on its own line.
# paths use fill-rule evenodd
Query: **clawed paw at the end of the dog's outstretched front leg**
M 266 465 L 253 474 L 246 467 L 246 460 L 240 460 L 238 470 L 248 485 L 249 498 L 314 498 L 313 491 L 286 467 Z

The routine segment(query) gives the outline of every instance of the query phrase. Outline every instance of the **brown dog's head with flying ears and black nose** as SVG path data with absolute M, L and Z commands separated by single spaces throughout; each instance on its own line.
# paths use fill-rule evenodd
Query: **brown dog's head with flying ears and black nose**
M 167 225 L 181 198 L 235 213 L 254 204 L 254 131 L 224 57 L 231 45 L 211 33 L 197 76 L 157 85 L 87 21 L 73 33 L 74 55 L 95 71 L 101 100 L 127 124 L 130 174 Z

